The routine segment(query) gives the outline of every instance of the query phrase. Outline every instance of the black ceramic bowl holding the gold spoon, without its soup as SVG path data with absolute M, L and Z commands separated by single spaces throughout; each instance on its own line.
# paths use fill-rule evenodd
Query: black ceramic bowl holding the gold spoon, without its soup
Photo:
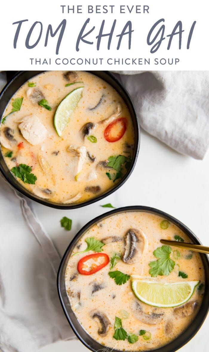
M 182 224 L 182 222 L 173 218 L 171 215 L 168 215 L 162 212 L 161 210 L 154 209 L 151 207 L 132 206 L 132 207 L 115 209 L 115 210 L 112 210 L 111 212 L 107 212 L 103 215 L 98 216 L 97 218 L 88 222 L 88 224 L 86 224 L 83 228 L 81 228 L 81 230 L 77 233 L 77 235 L 74 237 L 74 239 L 68 246 L 63 256 L 63 259 L 61 260 L 60 267 L 58 270 L 58 276 L 57 276 L 57 288 L 58 288 L 58 294 L 59 294 L 61 306 L 63 307 L 65 316 L 71 328 L 73 329 L 78 339 L 93 352 L 97 352 L 97 351 L 116 352 L 117 350 L 114 350 L 114 349 L 112 350 L 111 348 L 106 348 L 105 346 L 99 344 L 97 341 L 92 339 L 92 337 L 89 334 L 87 334 L 87 332 L 79 324 L 76 316 L 74 315 L 71 309 L 70 302 L 68 301 L 67 294 L 65 291 L 65 270 L 66 270 L 67 262 L 73 248 L 76 246 L 79 239 L 93 225 L 97 224 L 99 221 L 103 219 L 108 218 L 111 215 L 119 214 L 123 212 L 132 212 L 132 211 L 148 212 L 148 213 L 153 213 L 153 214 L 162 216 L 164 219 L 169 220 L 170 222 L 172 222 L 173 224 L 181 228 L 181 230 L 185 234 L 187 234 L 187 236 L 192 240 L 194 244 L 201 244 L 198 238 L 195 236 L 195 234 L 192 233 L 188 227 Z M 174 352 L 178 350 L 178 348 L 185 345 L 197 333 L 203 321 L 205 320 L 209 309 L 209 260 L 206 254 L 200 254 L 200 255 L 201 255 L 204 270 L 205 270 L 205 293 L 204 293 L 200 310 L 195 316 L 194 321 L 192 321 L 191 324 L 188 326 L 188 328 L 182 334 L 180 334 L 175 340 L 171 341 L 169 344 L 163 347 L 157 348 L 156 350 L 152 350 L 152 351 Z

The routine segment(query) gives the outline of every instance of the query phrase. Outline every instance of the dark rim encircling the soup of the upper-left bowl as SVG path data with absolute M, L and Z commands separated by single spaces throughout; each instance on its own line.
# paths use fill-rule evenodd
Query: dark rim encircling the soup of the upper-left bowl
M 7 90 L 9 89 L 9 87 L 13 84 L 13 82 L 19 78 L 21 75 L 24 75 L 27 72 L 32 73 L 31 77 L 37 76 L 38 74 L 41 74 L 43 72 L 49 72 L 50 70 L 46 71 L 18 71 L 12 78 L 11 80 L 9 80 L 6 84 L 6 86 L 2 89 L 2 91 L 0 92 L 0 104 L 1 104 L 1 99 L 4 96 L 4 94 L 7 92 Z M 134 150 L 134 154 L 133 154 L 133 158 L 132 158 L 132 163 L 131 166 L 129 168 L 129 170 L 126 172 L 126 174 L 122 177 L 122 179 L 112 188 L 110 188 L 109 190 L 107 190 L 105 193 L 98 195 L 97 197 L 93 197 L 90 200 L 84 201 L 82 203 L 75 203 L 75 204 L 64 204 L 64 203 L 53 203 L 50 202 L 46 199 L 41 199 L 40 197 L 36 196 L 35 194 L 33 194 L 30 191 L 27 191 L 23 186 L 21 187 L 20 184 L 15 182 L 15 178 L 12 177 L 11 179 L 7 176 L 6 172 L 4 171 L 4 168 L 2 168 L 1 162 L 0 162 L 0 172 L 1 174 L 6 178 L 7 182 L 9 182 L 9 184 L 11 184 L 12 187 L 14 187 L 17 191 L 19 191 L 21 194 L 23 194 L 24 196 L 26 196 L 27 198 L 40 203 L 42 205 L 48 206 L 50 208 L 55 208 L 55 209 L 77 209 L 77 208 L 81 208 L 81 207 L 85 207 L 88 206 L 92 203 L 95 203 L 97 201 L 100 201 L 102 199 L 104 199 L 105 197 L 109 196 L 110 194 L 114 193 L 115 191 L 117 191 L 121 186 L 123 186 L 123 184 L 128 180 L 128 178 L 130 177 L 130 175 L 133 172 L 133 169 L 135 168 L 136 162 L 137 162 L 137 158 L 138 158 L 138 153 L 139 153 L 139 148 L 140 148 L 140 127 L 139 127 L 139 122 L 137 119 L 137 113 L 136 113 L 136 109 L 135 106 L 133 104 L 132 98 L 130 96 L 130 94 L 128 93 L 128 91 L 126 90 L 126 88 L 123 86 L 123 84 L 118 80 L 118 78 L 113 75 L 110 71 L 88 71 L 88 70 L 83 70 L 85 72 L 89 72 L 93 75 L 97 76 L 97 73 L 99 72 L 103 72 L 105 74 L 105 76 L 109 76 L 110 79 L 112 79 L 113 81 L 115 81 L 116 85 L 118 86 L 118 89 L 121 89 L 124 93 L 124 95 L 126 96 L 127 100 L 129 101 L 130 104 L 130 114 L 131 114 L 131 120 L 133 122 L 133 129 L 134 129 L 134 134 L 135 134 L 135 140 L 134 140 L 134 146 L 135 146 L 135 150 Z M 101 77 L 100 77 L 101 78 Z M 101 78 L 105 81 L 105 78 Z M 24 82 L 26 83 L 27 80 Z M 21 86 L 24 84 L 22 83 Z M 108 82 L 107 82 L 108 83 Z M 108 83 L 110 84 L 110 83 Z M 20 87 L 21 87 L 20 86 Z M 110 84 L 111 86 L 111 84 Z M 114 88 L 114 87 L 113 87 Z M 19 88 L 18 88 L 19 89 Z M 114 88 L 115 89 L 115 88 Z M 116 90 L 117 91 L 117 90 Z M 17 92 L 17 90 L 16 90 Z M 120 95 L 120 93 L 118 92 L 118 94 Z M 11 96 L 12 98 L 12 96 Z M 11 99 L 10 98 L 10 99 Z M 8 102 L 7 102 L 8 103 Z M 130 108 L 128 108 L 128 110 L 130 110 Z M 0 116 L 0 124 L 1 124 L 1 119 L 2 119 L 3 115 Z M 0 153 L 1 153 L 1 148 L 0 148 Z M 1 153 L 2 155 L 2 153 Z M 3 155 L 2 155 L 3 158 Z M 6 163 L 5 163 L 6 164 Z M 9 170 L 9 169 L 8 169 Z M 14 182 L 13 182 L 14 179 Z

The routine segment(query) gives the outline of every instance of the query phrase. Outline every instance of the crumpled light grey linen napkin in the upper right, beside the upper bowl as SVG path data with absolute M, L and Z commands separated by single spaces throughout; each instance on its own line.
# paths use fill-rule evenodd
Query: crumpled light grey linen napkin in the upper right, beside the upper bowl
M 145 131 L 203 159 L 209 146 L 209 71 L 117 71 Z

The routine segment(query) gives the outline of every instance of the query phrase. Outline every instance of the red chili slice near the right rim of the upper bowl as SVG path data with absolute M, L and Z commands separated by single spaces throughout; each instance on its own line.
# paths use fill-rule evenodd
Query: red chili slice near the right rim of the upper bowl
M 127 120 L 125 117 L 120 117 L 112 122 L 105 128 L 104 137 L 107 142 L 117 142 L 123 137 L 126 131 Z

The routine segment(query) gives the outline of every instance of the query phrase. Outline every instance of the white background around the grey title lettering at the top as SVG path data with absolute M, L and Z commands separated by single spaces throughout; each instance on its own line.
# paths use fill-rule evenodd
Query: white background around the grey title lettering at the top
M 113 14 L 88 14 L 87 5 L 115 5 L 115 11 Z M 148 5 L 150 7 L 150 13 L 147 14 L 136 14 L 128 12 L 126 8 L 125 14 L 119 14 L 119 6 L 129 5 Z M 60 5 L 83 5 L 83 13 L 64 13 Z M 105 70 L 208 70 L 208 1 L 205 0 L 190 0 L 190 1 L 168 1 L 168 0 L 144 0 L 136 1 L 97 1 L 97 0 L 79 0 L 79 1 L 68 1 L 63 2 L 62 0 L 51 1 L 51 0 L 36 0 L 36 1 L 1 1 L 1 21 L 0 21 L 0 45 L 1 45 L 1 57 L 0 57 L 0 69 L 1 70 L 32 70 L 32 69 L 46 69 L 46 70 L 65 70 L 65 69 L 105 69 Z M 94 7 L 95 8 L 95 7 Z M 134 6 L 135 8 L 135 6 Z M 78 37 L 78 33 L 87 18 L 90 18 L 90 24 L 88 29 L 90 30 L 95 25 L 94 31 L 90 36 L 86 37 L 87 40 L 92 41 L 93 45 L 87 45 L 81 43 L 80 51 L 76 52 L 75 44 Z M 155 54 L 150 54 L 150 47 L 146 43 L 146 37 L 151 29 L 152 25 L 159 19 L 165 19 L 165 39 L 163 40 L 160 49 Z M 28 19 L 28 22 L 22 24 L 20 35 L 17 42 L 17 49 L 13 48 L 14 34 L 17 29 L 17 25 L 12 25 L 15 21 Z M 48 45 L 45 48 L 44 42 L 46 37 L 46 31 L 49 24 L 52 25 L 53 31 L 57 28 L 60 22 L 66 19 L 67 26 L 65 29 L 63 41 L 60 46 L 59 55 L 55 55 L 55 46 L 57 43 L 57 36 L 49 38 Z M 102 38 L 101 49 L 96 50 L 96 36 L 98 35 L 102 20 L 105 20 L 105 32 L 109 32 L 114 19 L 117 19 L 115 32 L 113 34 L 111 49 L 107 50 L 108 38 Z M 131 20 L 133 24 L 134 32 L 132 33 L 132 45 L 131 50 L 128 50 L 128 40 L 125 36 L 122 40 L 122 45 L 119 51 L 116 50 L 119 34 L 126 21 Z M 171 49 L 167 50 L 168 37 L 172 32 L 175 24 L 178 20 L 183 23 L 183 34 L 182 34 L 182 49 L 178 49 L 178 36 L 175 36 L 171 44 Z M 193 21 L 197 21 L 194 33 L 191 40 L 190 49 L 186 49 L 187 38 L 190 27 Z M 25 39 L 28 30 L 35 21 L 41 21 L 43 23 L 43 33 L 39 44 L 34 49 L 25 48 Z M 30 44 L 33 44 L 38 38 L 38 26 L 37 31 L 34 30 L 33 36 L 31 37 Z M 2 55 L 3 54 L 3 55 Z M 115 68 L 111 65 L 107 65 L 104 60 L 104 64 L 100 65 L 55 65 L 55 58 L 104 58 L 109 57 L 116 58 L 151 58 L 151 62 L 154 62 L 154 58 L 179 58 L 180 62 L 177 65 L 116 65 Z M 43 62 L 44 58 L 49 62 L 51 58 L 51 65 L 31 65 L 29 58 L 41 58 Z

